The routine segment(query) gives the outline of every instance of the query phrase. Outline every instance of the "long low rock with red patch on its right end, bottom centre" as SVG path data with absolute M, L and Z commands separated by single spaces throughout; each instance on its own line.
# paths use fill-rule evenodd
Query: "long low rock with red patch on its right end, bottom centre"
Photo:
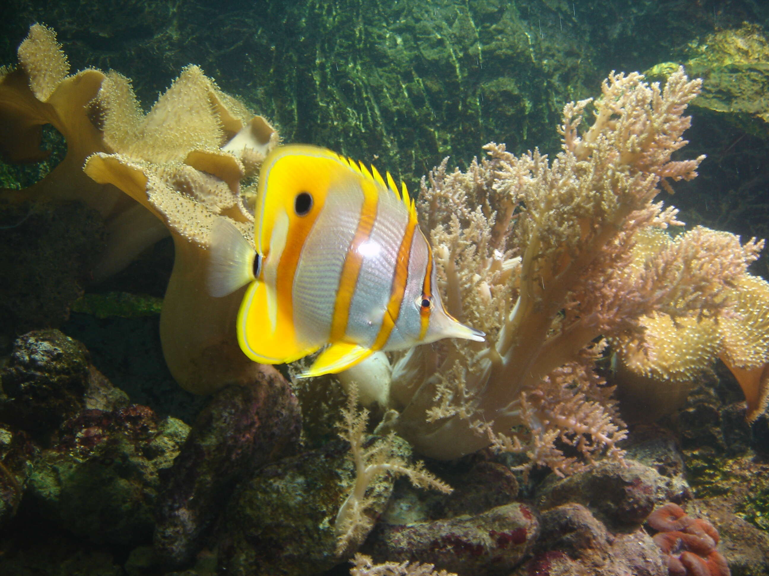
M 518 502 L 482 514 L 418 522 L 379 523 L 362 551 L 375 561 L 418 561 L 458 574 L 509 574 L 531 550 L 539 521 Z

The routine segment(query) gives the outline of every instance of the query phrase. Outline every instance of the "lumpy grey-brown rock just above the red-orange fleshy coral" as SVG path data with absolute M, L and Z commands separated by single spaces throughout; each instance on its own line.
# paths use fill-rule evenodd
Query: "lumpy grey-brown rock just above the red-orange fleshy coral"
M 630 458 L 626 462 L 599 462 L 567 478 L 550 475 L 538 488 L 535 502 L 540 510 L 576 502 L 609 528 L 627 529 L 640 525 L 657 505 L 681 502 L 688 495 L 685 483 Z

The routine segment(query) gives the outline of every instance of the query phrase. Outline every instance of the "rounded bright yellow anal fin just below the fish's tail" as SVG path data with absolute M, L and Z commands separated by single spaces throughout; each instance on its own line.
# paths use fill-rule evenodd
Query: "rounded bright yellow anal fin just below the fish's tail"
M 253 282 L 241 303 L 238 343 L 243 353 L 261 364 L 294 362 L 314 353 L 320 346 L 301 342 L 290 317 L 281 310 L 271 313 L 275 299 L 269 297 L 268 290 L 265 283 Z

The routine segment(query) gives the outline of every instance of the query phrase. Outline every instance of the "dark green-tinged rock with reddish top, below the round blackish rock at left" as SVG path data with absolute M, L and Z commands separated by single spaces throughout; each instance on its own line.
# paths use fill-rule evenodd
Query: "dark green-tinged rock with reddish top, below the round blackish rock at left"
M 125 546 L 148 541 L 158 472 L 171 466 L 188 431 L 146 406 L 86 409 L 37 459 L 30 493 L 46 520 L 80 538 Z

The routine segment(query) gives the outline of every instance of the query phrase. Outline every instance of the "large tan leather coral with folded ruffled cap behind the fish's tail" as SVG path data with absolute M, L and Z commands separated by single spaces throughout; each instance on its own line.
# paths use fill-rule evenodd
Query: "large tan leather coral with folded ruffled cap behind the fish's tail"
M 32 158 L 39 126 L 49 123 L 66 138 L 68 154 L 15 197 L 64 197 L 99 210 L 108 247 L 95 268 L 97 279 L 170 232 L 175 263 L 161 341 L 171 373 L 198 393 L 250 379 L 257 366 L 241 353 L 233 329 L 241 293 L 208 296 L 207 248 L 216 218 L 229 217 L 246 237 L 252 234 L 240 181 L 255 174 L 278 134 L 196 66 L 185 68 L 143 114 L 130 81 L 116 72 L 66 76 L 55 35 L 41 25 L 22 43 L 19 61 L 0 82 L 0 114 L 20 118 L 9 124 L 13 133 L 2 134 L 5 144 L 25 137 Z

